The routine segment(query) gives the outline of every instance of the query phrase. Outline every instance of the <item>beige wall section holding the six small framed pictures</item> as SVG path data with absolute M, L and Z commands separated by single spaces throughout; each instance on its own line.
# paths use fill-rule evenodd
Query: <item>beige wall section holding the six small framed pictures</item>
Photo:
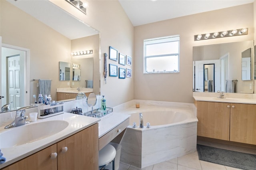
M 100 94 L 105 95 L 107 107 L 114 107 L 134 99 L 134 27 L 118 0 L 88 1 L 87 15 L 82 14 L 65 1 L 50 1 L 100 31 Z M 107 59 L 108 77 L 105 83 L 103 58 L 104 53 L 107 53 L 109 57 L 109 46 L 115 47 L 124 55 L 132 56 L 133 60 L 132 66 L 122 66 L 117 61 Z M 132 78 L 109 77 L 109 63 L 116 64 L 118 67 L 132 68 Z

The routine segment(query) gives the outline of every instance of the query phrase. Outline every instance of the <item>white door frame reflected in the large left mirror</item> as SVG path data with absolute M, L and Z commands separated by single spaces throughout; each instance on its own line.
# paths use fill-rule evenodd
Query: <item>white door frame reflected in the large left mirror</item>
M 24 51 L 25 52 L 25 58 L 24 58 L 24 60 L 25 60 L 24 61 L 24 63 L 25 63 L 25 68 L 24 68 L 24 73 L 25 73 L 24 88 L 25 89 L 21 89 L 21 90 L 25 91 L 25 96 L 24 96 L 25 97 L 25 106 L 28 106 L 28 105 L 30 105 L 30 81 L 29 81 L 29 78 L 30 78 L 30 49 L 23 48 L 23 47 L 18 47 L 18 46 L 14 46 L 14 45 L 9 45 L 9 44 L 5 44 L 5 43 L 2 43 L 1 50 L 2 50 L 2 47 L 16 49 L 16 50 L 20 50 L 20 51 Z M 1 56 L 1 59 L 2 59 L 2 56 Z

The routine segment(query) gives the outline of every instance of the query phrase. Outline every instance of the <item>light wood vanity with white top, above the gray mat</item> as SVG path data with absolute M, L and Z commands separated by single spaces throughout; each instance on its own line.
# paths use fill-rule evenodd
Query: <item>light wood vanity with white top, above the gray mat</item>
M 194 96 L 197 135 L 256 145 L 256 99 Z

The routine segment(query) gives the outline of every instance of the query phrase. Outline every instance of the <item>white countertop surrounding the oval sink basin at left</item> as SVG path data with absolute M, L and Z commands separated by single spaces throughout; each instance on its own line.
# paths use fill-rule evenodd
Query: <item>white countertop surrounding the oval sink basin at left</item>
M 46 148 L 56 142 L 59 142 L 60 140 L 67 138 L 68 136 L 71 136 L 72 134 L 75 134 L 100 121 L 100 119 L 94 118 L 94 117 L 75 115 L 71 113 L 63 113 L 63 114 L 56 115 L 53 117 L 48 117 L 45 119 L 37 119 L 36 122 L 31 122 L 26 125 L 40 123 L 43 121 L 56 121 L 56 120 L 67 121 L 68 127 L 66 127 L 64 130 L 52 136 L 48 136 L 46 138 L 42 138 L 34 142 L 13 146 L 10 148 L 1 148 L 1 152 L 4 154 L 3 156 L 6 158 L 6 162 L 4 164 L 0 164 L 0 168 L 10 165 L 22 158 L 25 158 L 26 156 L 34 154 L 35 152 L 38 152 L 39 150 L 42 150 L 43 148 Z M 22 126 L 26 126 L 26 125 L 22 125 Z M 6 132 L 12 129 L 14 130 L 15 128 L 22 128 L 22 126 L 10 128 L 10 129 L 4 129 L 4 126 L 3 126 L 3 127 L 0 127 L 0 133 Z

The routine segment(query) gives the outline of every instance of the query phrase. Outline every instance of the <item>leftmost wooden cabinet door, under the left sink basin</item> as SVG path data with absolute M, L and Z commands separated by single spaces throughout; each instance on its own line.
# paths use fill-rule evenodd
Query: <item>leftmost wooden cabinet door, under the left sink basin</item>
M 2 170 L 57 170 L 57 158 L 50 158 L 50 154 L 56 152 L 56 150 L 57 144 L 53 144 Z

